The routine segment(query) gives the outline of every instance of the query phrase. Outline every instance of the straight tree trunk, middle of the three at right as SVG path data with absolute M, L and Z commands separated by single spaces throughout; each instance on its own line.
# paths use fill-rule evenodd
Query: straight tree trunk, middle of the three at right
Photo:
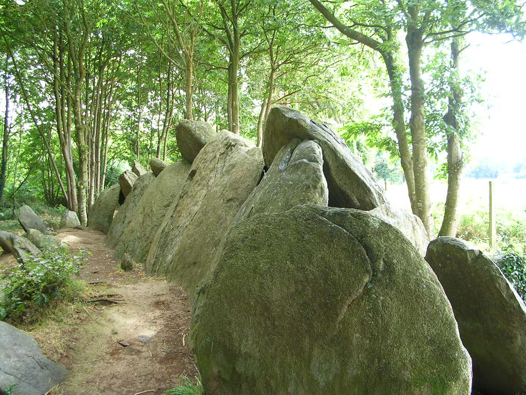
M 424 85 L 422 81 L 422 32 L 410 24 L 406 36 L 411 80 L 411 145 L 413 149 L 414 190 L 417 215 L 429 237 L 433 236 L 429 172 L 427 162 L 426 124 L 424 122 Z

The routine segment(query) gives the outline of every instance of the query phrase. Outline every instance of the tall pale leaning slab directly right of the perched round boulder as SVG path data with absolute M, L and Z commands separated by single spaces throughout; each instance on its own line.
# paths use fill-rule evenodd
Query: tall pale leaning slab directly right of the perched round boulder
M 167 212 L 146 261 L 193 296 L 213 270 L 215 250 L 263 170 L 261 150 L 230 132 L 217 133 L 197 155 L 173 212 Z

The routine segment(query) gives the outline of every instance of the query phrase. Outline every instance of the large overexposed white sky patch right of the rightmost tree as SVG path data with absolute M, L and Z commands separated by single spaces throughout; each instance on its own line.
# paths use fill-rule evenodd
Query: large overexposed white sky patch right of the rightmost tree
M 469 41 L 461 67 L 485 71 L 483 94 L 490 105 L 478 114 L 481 135 L 471 149 L 473 161 L 526 157 L 526 43 L 480 33 L 470 34 Z

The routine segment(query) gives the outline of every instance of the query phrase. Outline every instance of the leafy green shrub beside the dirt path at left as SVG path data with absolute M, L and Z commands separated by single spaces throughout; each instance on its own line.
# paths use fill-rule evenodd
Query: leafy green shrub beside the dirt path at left
M 50 302 L 79 292 L 72 276 L 78 274 L 85 261 L 81 251 L 76 255 L 65 248 L 43 251 L 42 256 L 19 264 L 6 276 L 4 298 L 0 298 L 0 320 L 31 321 L 35 312 Z

